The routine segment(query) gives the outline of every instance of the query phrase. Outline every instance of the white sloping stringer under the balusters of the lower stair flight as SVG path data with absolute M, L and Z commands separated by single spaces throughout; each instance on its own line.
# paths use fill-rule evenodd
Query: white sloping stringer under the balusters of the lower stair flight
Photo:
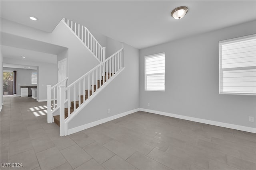
M 90 98 L 88 98 L 87 100 L 85 100 L 85 102 L 83 102 L 72 114 L 70 114 L 64 121 L 64 131 L 65 131 L 65 136 L 66 135 L 71 135 L 72 133 L 76 133 L 76 131 L 72 131 L 72 133 L 70 133 L 68 131 L 68 123 L 87 105 L 90 103 L 91 100 L 93 100 L 106 86 L 108 86 L 108 84 L 110 84 L 110 82 L 112 82 L 112 80 L 114 80 L 114 78 L 116 78 L 116 76 L 118 76 L 118 74 L 120 74 L 125 67 L 120 68 L 120 70 L 118 70 L 118 72 L 116 72 L 115 74 L 113 74 L 113 76 L 108 79 L 100 88 L 98 88 L 98 90 L 96 90 L 96 92 L 94 92 L 93 95 L 90 96 Z

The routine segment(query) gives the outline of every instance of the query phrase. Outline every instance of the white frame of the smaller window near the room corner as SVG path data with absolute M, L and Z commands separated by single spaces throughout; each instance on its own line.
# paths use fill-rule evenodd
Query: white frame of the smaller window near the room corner
M 164 73 L 154 73 L 154 74 L 151 74 L 151 75 L 162 75 L 164 74 L 164 90 L 148 90 L 147 89 L 147 75 L 149 74 L 146 74 L 146 59 L 149 59 L 149 58 L 153 58 L 153 57 L 158 57 L 158 56 L 161 56 L 164 54 Z M 157 54 L 153 54 L 153 55 L 147 55 L 144 57 L 144 90 L 145 91 L 155 91 L 155 92 L 165 92 L 165 52 L 162 52 L 162 53 L 157 53 Z

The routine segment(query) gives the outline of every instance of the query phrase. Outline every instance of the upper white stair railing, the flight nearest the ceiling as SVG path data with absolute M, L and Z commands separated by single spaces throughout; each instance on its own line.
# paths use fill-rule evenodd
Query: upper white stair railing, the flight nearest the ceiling
M 72 32 L 82 41 L 90 52 L 100 61 L 104 61 L 106 53 L 105 47 L 102 47 L 90 31 L 83 25 L 63 18 L 62 21 L 72 30 Z

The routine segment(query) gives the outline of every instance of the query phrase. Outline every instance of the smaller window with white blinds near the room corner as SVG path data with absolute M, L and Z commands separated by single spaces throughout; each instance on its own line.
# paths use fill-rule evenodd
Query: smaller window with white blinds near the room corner
M 145 57 L 145 90 L 164 91 L 164 53 Z

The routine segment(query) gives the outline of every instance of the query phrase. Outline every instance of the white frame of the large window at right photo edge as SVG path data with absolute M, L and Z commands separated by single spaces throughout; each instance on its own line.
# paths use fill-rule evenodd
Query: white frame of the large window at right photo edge
M 223 72 L 224 71 L 232 71 L 232 70 L 250 70 L 256 69 L 256 66 L 242 66 L 242 67 L 234 67 L 234 68 L 222 68 L 222 45 L 225 43 L 236 43 L 239 41 L 249 40 L 249 39 L 256 39 L 256 34 L 246 35 L 242 37 L 236 37 L 232 39 L 226 39 L 219 41 L 219 94 L 232 94 L 232 95 L 252 95 L 255 96 L 253 93 L 242 93 L 242 92 L 223 92 Z M 222 89 L 221 89 L 222 88 Z M 222 91 L 221 91 L 222 90 Z

